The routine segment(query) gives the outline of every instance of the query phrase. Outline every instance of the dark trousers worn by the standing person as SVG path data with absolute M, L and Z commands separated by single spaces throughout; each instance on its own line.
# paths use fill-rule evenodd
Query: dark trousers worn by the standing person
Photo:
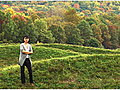
M 26 58 L 23 66 L 20 66 L 21 67 L 21 81 L 22 81 L 22 83 L 25 83 L 25 73 L 24 73 L 25 66 L 27 67 L 27 69 L 29 71 L 30 83 L 33 83 L 32 67 L 31 67 L 29 58 Z

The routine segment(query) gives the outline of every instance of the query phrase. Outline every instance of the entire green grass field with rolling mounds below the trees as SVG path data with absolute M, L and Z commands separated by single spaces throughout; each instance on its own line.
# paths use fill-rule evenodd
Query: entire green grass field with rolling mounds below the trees
M 67 44 L 31 44 L 34 87 L 21 84 L 20 44 L 0 45 L 0 89 L 119 89 L 120 51 Z

